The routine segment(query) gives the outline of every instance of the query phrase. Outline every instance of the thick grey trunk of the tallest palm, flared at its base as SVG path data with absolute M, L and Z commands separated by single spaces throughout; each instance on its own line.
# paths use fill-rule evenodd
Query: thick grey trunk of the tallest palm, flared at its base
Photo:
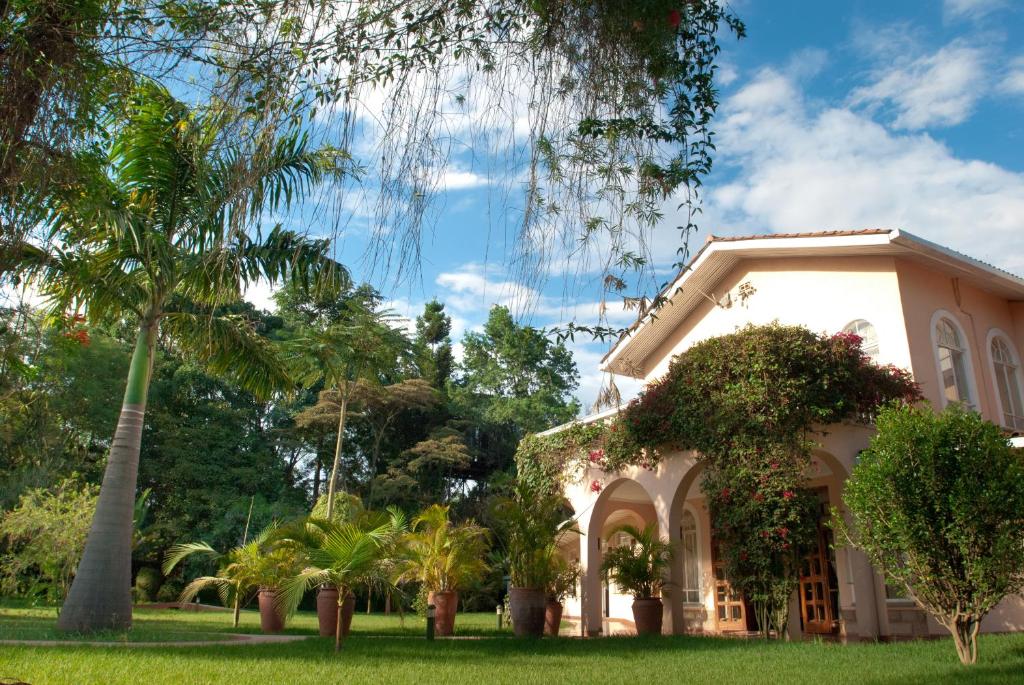
M 131 627 L 132 511 L 156 339 L 157 323 L 148 317 L 135 342 L 85 552 L 57 618 L 57 628 L 62 631 Z

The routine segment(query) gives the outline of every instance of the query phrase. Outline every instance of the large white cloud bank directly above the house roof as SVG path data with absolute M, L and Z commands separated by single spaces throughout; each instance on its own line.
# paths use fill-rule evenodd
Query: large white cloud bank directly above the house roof
M 719 161 L 737 174 L 710 191 L 702 224 L 716 232 L 900 227 L 1024 271 L 1024 174 L 815 109 L 771 70 L 724 101 L 718 132 Z

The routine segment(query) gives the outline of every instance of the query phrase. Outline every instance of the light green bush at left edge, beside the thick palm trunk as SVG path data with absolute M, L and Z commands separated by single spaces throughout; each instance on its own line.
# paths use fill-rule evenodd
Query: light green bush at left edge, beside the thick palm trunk
M 31 489 L 0 519 L 0 589 L 6 594 L 45 594 L 60 602 L 82 556 L 97 487 L 75 478 Z

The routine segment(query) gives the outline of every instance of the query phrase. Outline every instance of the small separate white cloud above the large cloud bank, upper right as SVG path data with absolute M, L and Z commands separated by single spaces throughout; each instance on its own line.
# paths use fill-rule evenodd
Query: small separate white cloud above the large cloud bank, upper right
M 934 54 L 880 70 L 873 84 L 853 91 L 851 103 L 890 105 L 896 128 L 954 126 L 984 94 L 985 61 L 980 48 L 953 41 Z

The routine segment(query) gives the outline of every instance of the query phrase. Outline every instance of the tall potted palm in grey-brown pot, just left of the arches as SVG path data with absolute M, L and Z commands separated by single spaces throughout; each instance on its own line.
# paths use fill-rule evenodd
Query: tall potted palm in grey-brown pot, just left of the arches
M 509 607 L 512 630 L 517 637 L 544 634 L 546 590 L 557 568 L 558 541 L 575 521 L 566 517 L 562 498 L 545 493 L 524 481 L 512 494 L 499 498 L 492 507 L 495 526 L 501 534 L 503 556 L 508 566 Z

